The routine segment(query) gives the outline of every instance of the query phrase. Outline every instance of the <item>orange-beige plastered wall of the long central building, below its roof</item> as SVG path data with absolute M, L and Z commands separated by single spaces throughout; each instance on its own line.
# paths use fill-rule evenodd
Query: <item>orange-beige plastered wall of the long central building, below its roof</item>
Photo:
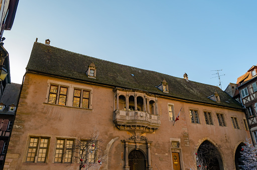
M 95 64 L 99 73 L 101 68 L 97 62 Z M 206 140 L 220 153 L 219 169 L 236 169 L 236 149 L 246 137 L 250 137 L 249 131 L 244 128 L 245 114 L 242 108 L 212 103 L 211 99 L 207 103 L 165 93 L 161 95 L 126 89 L 118 84 L 98 83 L 98 78 L 98 74 L 94 74 L 94 81 L 86 81 L 28 70 L 5 168 L 78 169 L 78 160 L 55 162 L 56 142 L 58 139 L 79 140 L 97 129 L 105 153 L 100 169 L 133 169 L 130 167 L 131 154 L 138 151 L 144 159 L 141 169 L 196 169 L 194 153 Z M 167 82 L 164 84 L 168 86 L 166 93 L 172 93 L 173 87 Z M 185 80 L 185 83 L 190 83 L 190 80 Z M 51 86 L 67 88 L 64 106 L 58 101 L 57 104 L 49 104 Z M 87 108 L 73 106 L 74 90 L 89 92 Z M 219 91 L 217 94 L 221 93 Z M 61 100 L 60 92 L 56 95 L 56 99 Z M 210 95 L 206 95 L 207 99 Z M 222 95 L 220 101 L 224 101 Z M 174 124 L 179 112 L 179 120 Z M 206 120 L 205 114 L 211 117 Z M 236 118 L 237 126 L 231 121 L 232 118 Z M 48 140 L 46 156 L 40 159 L 42 162 L 37 161 L 39 151 L 36 157 L 28 159 L 31 138 Z M 39 150 L 40 146 L 36 149 Z M 177 158 L 176 161 L 174 158 Z

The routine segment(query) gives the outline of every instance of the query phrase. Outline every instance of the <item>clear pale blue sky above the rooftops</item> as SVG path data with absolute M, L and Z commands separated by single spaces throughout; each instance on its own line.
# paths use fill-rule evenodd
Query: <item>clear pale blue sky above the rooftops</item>
M 11 80 L 22 83 L 36 38 L 51 46 L 222 89 L 257 64 L 256 0 L 20 0 L 5 31 Z M 72 58 L 71 58 L 72 59 Z M 56 61 L 58 62 L 58 61 Z M 212 75 L 214 74 L 214 75 Z

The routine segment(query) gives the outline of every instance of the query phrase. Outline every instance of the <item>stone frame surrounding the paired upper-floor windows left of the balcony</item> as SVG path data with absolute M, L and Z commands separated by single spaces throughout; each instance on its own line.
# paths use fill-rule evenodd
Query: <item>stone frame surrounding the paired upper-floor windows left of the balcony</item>
M 56 81 L 56 80 L 52 80 L 52 79 L 48 79 L 47 83 L 48 83 L 48 87 L 47 87 L 47 93 L 46 93 L 46 100 L 45 100 L 44 104 L 49 104 L 48 103 L 48 97 L 49 97 L 49 93 L 50 93 L 50 86 L 53 84 L 55 86 L 60 86 L 60 87 L 67 88 L 66 105 L 65 106 L 64 105 L 58 105 L 58 104 L 49 104 L 49 105 L 56 105 L 56 106 L 62 106 L 62 107 L 71 107 L 71 108 L 78 108 L 78 109 L 93 110 L 92 109 L 93 88 L 88 87 L 88 86 L 81 86 L 81 85 L 74 84 L 74 83 L 66 83 L 66 82 L 63 82 L 63 81 Z M 73 107 L 74 89 L 83 90 L 83 91 L 89 91 L 90 92 L 90 95 L 89 95 L 90 96 L 90 98 L 89 98 L 89 108 Z M 57 100 L 56 100 L 56 103 L 57 103 Z M 80 106 L 82 106 L 82 104 L 80 104 Z

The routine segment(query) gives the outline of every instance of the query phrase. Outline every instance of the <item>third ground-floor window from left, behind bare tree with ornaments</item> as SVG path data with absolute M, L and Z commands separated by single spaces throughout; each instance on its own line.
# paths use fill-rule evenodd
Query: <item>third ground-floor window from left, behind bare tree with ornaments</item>
M 96 149 L 97 143 L 95 140 L 81 140 L 80 141 L 80 151 L 82 159 L 88 159 L 89 162 L 96 162 Z

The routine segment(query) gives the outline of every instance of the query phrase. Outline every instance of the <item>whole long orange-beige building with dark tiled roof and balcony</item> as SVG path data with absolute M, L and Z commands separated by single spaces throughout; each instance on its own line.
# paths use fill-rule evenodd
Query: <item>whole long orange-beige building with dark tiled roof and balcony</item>
M 105 153 L 101 169 L 196 168 L 203 144 L 217 151 L 214 169 L 239 169 L 250 137 L 244 108 L 218 87 L 49 43 L 34 43 L 6 169 L 77 169 L 76 153 L 65 150 L 94 129 Z

